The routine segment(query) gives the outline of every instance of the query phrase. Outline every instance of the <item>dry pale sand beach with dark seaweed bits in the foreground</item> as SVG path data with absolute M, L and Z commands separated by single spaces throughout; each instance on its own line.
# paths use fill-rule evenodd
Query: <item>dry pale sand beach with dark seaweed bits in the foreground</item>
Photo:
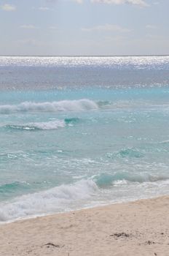
M 1 225 L 0 255 L 169 256 L 169 197 Z

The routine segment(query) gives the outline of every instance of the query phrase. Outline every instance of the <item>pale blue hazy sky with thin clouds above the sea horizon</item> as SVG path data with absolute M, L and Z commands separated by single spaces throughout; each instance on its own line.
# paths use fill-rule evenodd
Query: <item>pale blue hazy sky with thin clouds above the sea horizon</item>
M 168 10 L 168 0 L 0 0 L 0 55 L 167 55 Z

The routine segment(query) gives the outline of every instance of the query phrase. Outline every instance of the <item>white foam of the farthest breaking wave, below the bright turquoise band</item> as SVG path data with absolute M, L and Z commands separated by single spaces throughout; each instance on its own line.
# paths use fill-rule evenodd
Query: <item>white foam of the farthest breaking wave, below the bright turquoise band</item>
M 63 100 L 58 102 L 22 102 L 18 105 L 0 105 L 0 113 L 15 112 L 58 112 L 97 110 L 98 105 L 90 99 Z

